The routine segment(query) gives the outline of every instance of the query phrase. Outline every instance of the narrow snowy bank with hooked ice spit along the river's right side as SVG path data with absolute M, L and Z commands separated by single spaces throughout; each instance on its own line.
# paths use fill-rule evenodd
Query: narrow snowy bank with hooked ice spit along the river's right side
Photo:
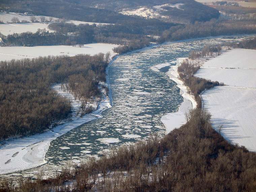
M 194 97 L 188 94 L 188 87 L 185 86 L 184 83 L 179 79 L 178 67 L 184 59 L 185 58 L 179 58 L 177 61 L 174 62 L 176 63 L 176 65 L 174 66 L 171 66 L 171 63 L 165 63 L 151 67 L 152 70 L 159 71 L 161 68 L 169 66 L 170 68 L 166 72 L 166 74 L 172 81 L 177 83 L 177 86 L 180 88 L 180 94 L 184 99 L 184 102 L 179 107 L 179 111 L 175 113 L 168 113 L 161 118 L 161 121 L 164 124 L 167 133 L 171 132 L 175 128 L 179 128 L 184 125 L 187 122 L 185 114 L 190 109 L 195 108 L 197 105 Z

